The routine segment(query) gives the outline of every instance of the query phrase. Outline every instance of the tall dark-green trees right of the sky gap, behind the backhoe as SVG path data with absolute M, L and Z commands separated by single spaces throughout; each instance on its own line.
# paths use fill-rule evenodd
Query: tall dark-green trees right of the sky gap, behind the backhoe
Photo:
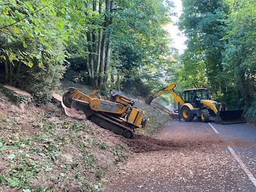
M 179 29 L 188 37 L 174 80 L 181 87 L 209 87 L 213 99 L 253 114 L 256 90 L 255 1 L 183 1 Z

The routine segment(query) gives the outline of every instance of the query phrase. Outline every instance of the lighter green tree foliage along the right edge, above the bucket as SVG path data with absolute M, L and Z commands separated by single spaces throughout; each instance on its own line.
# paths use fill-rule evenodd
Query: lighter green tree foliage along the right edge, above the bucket
M 240 89 L 245 102 L 256 91 L 256 3 L 242 0 L 227 1 L 230 14 L 226 21 L 228 30 L 223 38 L 227 42 L 223 52 L 223 67 L 232 82 Z

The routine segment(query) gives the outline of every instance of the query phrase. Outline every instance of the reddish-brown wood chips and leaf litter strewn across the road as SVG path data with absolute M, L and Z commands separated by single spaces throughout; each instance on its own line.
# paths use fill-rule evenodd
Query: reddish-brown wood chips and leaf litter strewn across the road
M 134 154 L 103 191 L 248 191 L 243 185 L 251 185 L 208 124 L 174 121 L 154 138 L 125 142 Z

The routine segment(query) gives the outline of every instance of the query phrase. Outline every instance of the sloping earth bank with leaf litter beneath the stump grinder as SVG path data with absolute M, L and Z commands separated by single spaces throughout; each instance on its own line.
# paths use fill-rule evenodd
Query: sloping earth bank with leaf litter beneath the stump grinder
M 92 92 L 73 83 L 63 87 Z M 0 88 L 0 191 L 99 191 L 134 153 L 175 147 L 147 136 L 163 129 L 169 112 L 134 100 L 151 122 L 129 140 L 68 117 L 55 99 L 21 110 Z

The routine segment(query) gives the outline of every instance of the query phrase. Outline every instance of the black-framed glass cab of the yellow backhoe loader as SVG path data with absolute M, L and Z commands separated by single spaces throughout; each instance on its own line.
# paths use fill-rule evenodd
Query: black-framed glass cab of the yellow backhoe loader
M 190 103 L 195 108 L 200 107 L 200 100 L 209 100 L 207 88 L 190 88 L 184 90 L 184 102 Z

